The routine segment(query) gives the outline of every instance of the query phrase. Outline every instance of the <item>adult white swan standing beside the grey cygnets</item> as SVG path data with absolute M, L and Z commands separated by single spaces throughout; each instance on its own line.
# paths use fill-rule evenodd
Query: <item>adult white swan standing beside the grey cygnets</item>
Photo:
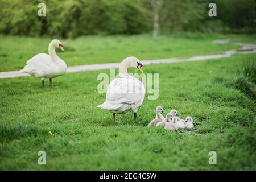
M 130 76 L 127 68 L 135 67 L 143 73 L 142 64 L 136 57 L 127 57 L 119 65 L 119 78 L 110 82 L 107 88 L 106 100 L 103 104 L 98 105 L 102 109 L 109 110 L 115 114 L 123 114 L 132 110 L 134 121 L 137 118 L 138 107 L 142 105 L 145 97 L 145 87 L 137 78 Z

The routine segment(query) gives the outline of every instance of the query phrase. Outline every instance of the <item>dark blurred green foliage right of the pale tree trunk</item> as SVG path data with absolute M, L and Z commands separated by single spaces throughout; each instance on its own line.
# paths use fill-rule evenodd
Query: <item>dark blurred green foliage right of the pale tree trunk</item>
M 255 32 L 254 0 L 159 0 L 163 1 L 164 31 Z M 209 17 L 209 3 L 216 3 L 217 17 Z

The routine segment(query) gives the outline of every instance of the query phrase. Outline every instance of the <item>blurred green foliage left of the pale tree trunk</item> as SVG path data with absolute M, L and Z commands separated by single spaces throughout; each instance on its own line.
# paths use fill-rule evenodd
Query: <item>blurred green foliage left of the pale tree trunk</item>
M 140 1 L 46 0 L 46 17 L 39 17 L 39 1 L 0 1 L 0 33 L 75 38 L 97 34 L 139 34 L 148 31 L 147 10 Z

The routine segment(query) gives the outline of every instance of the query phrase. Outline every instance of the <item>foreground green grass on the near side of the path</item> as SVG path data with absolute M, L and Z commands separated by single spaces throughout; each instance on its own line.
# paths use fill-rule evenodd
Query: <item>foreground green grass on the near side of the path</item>
M 82 46 L 86 38 L 78 40 Z M 108 69 L 67 73 L 53 80 L 53 89 L 41 89 L 35 77 L 0 80 L 0 169 L 255 170 L 255 100 L 232 84 L 255 56 L 143 67 L 159 73 L 159 98 L 146 95 L 135 123 L 131 112 L 114 123 L 96 107 L 105 100 L 97 75 Z M 146 128 L 158 105 L 191 115 L 195 128 Z M 37 162 L 40 150 L 47 165 Z M 217 165 L 208 164 L 209 151 L 217 152 Z

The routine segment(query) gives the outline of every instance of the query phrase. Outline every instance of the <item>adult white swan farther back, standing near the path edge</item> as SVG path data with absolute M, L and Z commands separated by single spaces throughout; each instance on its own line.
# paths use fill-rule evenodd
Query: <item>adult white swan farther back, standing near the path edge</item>
M 52 86 L 52 78 L 63 75 L 67 69 L 67 64 L 57 56 L 55 47 L 59 47 L 61 51 L 64 51 L 60 40 L 54 39 L 49 43 L 49 55 L 46 53 L 35 55 L 27 61 L 27 65 L 20 72 L 41 78 L 43 88 L 44 78 L 49 78 L 50 86 Z

